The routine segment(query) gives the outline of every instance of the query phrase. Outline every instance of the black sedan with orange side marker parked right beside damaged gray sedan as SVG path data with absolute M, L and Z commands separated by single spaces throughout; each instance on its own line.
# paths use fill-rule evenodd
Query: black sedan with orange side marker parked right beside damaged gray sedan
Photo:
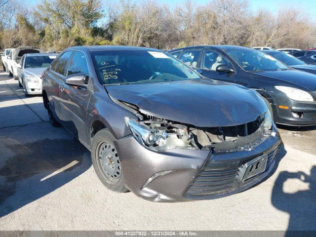
M 169 53 L 207 78 L 255 89 L 265 98 L 276 123 L 316 124 L 316 75 L 294 70 L 259 50 L 240 46 L 192 46 Z

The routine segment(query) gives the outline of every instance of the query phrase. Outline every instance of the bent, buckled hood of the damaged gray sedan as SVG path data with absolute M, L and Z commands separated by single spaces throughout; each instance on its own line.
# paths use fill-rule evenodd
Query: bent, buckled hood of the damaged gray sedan
M 267 110 L 257 92 L 211 79 L 105 87 L 112 97 L 138 106 L 141 113 L 199 127 L 239 125 Z

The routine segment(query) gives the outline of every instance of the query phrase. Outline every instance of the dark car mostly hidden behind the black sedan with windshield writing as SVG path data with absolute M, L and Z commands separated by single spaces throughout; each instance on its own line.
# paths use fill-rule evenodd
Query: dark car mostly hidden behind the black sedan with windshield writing
M 262 51 L 281 61 L 282 63 L 290 66 L 291 68 L 316 74 L 316 65 L 307 64 L 304 61 L 289 55 L 288 53 L 273 51 L 273 50 L 264 50 Z

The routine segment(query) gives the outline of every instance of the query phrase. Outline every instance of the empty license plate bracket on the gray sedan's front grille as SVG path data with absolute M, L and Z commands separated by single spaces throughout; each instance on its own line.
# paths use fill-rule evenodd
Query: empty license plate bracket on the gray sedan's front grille
M 239 168 L 237 178 L 240 181 L 245 181 L 257 174 L 264 172 L 267 167 L 267 160 L 268 155 L 265 154 L 248 161 Z

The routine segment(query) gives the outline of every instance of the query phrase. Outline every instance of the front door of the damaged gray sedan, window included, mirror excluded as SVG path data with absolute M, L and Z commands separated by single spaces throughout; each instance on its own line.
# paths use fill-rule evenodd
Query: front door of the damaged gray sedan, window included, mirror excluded
M 90 79 L 90 71 L 87 64 L 86 55 L 81 50 L 76 50 L 73 54 L 66 76 L 83 73 Z M 60 90 L 61 103 L 63 105 L 64 122 L 67 128 L 79 138 L 84 144 L 89 144 L 87 136 L 87 107 L 92 93 L 92 83 L 88 82 L 88 88 L 72 86 L 65 83 Z

